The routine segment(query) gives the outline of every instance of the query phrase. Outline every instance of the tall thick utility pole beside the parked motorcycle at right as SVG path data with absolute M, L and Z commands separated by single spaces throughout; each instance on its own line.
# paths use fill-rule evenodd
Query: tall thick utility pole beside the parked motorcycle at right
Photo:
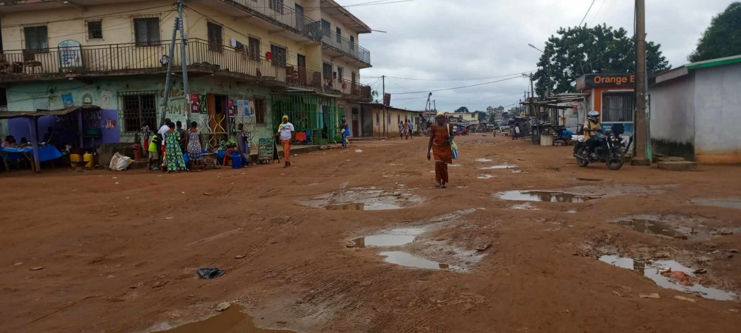
M 636 155 L 631 165 L 651 165 L 646 158 L 646 47 L 645 0 L 636 0 Z

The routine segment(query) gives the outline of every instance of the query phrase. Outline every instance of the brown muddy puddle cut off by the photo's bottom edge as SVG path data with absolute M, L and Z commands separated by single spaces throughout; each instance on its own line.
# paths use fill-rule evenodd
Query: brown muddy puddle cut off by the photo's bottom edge
M 228 309 L 206 320 L 196 321 L 167 329 L 167 333 L 296 333 L 285 329 L 261 329 L 255 326 L 250 314 L 242 312 L 242 306 L 231 305 Z

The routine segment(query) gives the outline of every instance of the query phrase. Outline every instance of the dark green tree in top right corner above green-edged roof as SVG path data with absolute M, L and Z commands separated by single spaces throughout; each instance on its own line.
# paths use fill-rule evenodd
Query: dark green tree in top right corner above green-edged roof
M 691 62 L 741 55 L 741 2 L 733 2 L 715 16 L 702 33 L 697 49 L 687 59 Z

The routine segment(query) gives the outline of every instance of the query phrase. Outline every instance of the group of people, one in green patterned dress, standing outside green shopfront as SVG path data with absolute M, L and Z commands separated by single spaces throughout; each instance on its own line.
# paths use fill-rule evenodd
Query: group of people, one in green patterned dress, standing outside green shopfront
M 195 121 L 190 123 L 190 129 L 185 130 L 181 121 L 173 123 L 170 118 L 165 118 L 165 124 L 152 135 L 148 150 L 150 170 L 167 168 L 167 173 L 171 173 L 202 169 L 203 135 Z M 185 165 L 185 152 L 190 166 Z

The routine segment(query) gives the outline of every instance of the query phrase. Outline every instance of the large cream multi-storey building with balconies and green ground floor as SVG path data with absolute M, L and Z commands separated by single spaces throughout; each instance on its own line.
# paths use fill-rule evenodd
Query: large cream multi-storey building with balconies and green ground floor
M 358 103 L 371 100 L 370 87 L 359 84 L 360 70 L 371 67 L 359 35 L 371 29 L 333 0 L 185 1 L 185 46 L 179 33 L 173 39 L 173 2 L 2 1 L 7 110 L 97 105 L 102 110 L 82 116 L 86 128 L 99 129 L 84 131 L 86 144 L 133 141 L 143 127 L 156 130 L 163 111 L 172 121 L 196 121 L 214 140 L 245 124 L 256 144 L 282 115 L 309 141 L 336 140 L 340 117 L 350 121 Z M 3 121 L 0 134 L 28 135 L 21 121 Z M 74 132 L 70 121 L 39 118 L 39 135 L 47 125 Z

